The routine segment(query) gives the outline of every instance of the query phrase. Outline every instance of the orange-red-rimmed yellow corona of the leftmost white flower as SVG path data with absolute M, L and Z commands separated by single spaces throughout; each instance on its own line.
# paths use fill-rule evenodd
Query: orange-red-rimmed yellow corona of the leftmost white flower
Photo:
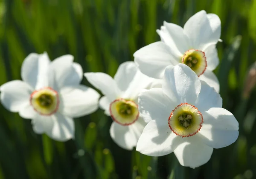
M 30 104 L 41 115 L 49 116 L 58 111 L 58 92 L 50 87 L 33 91 L 30 95 Z

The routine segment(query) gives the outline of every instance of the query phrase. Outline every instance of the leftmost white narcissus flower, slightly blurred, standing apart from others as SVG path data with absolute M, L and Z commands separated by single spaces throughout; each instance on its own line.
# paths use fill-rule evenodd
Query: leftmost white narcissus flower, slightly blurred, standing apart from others
M 73 117 L 97 110 L 100 95 L 92 88 L 80 85 L 81 65 L 72 55 L 64 55 L 52 62 L 47 53 L 29 54 L 21 67 L 22 80 L 0 86 L 3 106 L 32 119 L 37 134 L 66 141 L 74 138 Z

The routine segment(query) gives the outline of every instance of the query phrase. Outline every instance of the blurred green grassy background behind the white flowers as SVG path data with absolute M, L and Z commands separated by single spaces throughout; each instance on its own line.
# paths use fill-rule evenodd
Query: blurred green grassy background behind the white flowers
M 256 0 L 0 0 L 0 85 L 20 79 L 31 52 L 47 51 L 52 60 L 72 54 L 84 72 L 113 76 L 137 49 L 160 40 L 156 29 L 164 20 L 183 26 L 202 9 L 221 19 L 215 73 L 223 108 L 239 121 L 234 144 L 191 169 L 173 153 L 150 157 L 119 148 L 102 110 L 75 119 L 75 141 L 56 142 L 0 105 L 0 179 L 255 179 L 255 71 L 246 79 L 256 60 Z

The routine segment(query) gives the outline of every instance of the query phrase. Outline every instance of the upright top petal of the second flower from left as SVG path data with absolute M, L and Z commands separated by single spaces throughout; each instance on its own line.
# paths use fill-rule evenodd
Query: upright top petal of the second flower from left
M 119 65 L 114 76 L 114 80 L 116 81 L 116 84 L 121 91 L 126 91 L 129 84 L 134 79 L 137 70 L 137 65 L 132 61 L 124 62 Z

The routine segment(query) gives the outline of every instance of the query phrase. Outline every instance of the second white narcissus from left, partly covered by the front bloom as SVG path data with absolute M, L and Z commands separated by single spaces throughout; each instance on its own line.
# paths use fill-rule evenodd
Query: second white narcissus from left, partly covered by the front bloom
M 112 139 L 120 147 L 132 150 L 146 125 L 139 114 L 138 94 L 150 85 L 152 79 L 142 74 L 131 61 L 122 63 L 114 78 L 100 72 L 85 73 L 84 76 L 105 95 L 99 106 L 113 119 Z

